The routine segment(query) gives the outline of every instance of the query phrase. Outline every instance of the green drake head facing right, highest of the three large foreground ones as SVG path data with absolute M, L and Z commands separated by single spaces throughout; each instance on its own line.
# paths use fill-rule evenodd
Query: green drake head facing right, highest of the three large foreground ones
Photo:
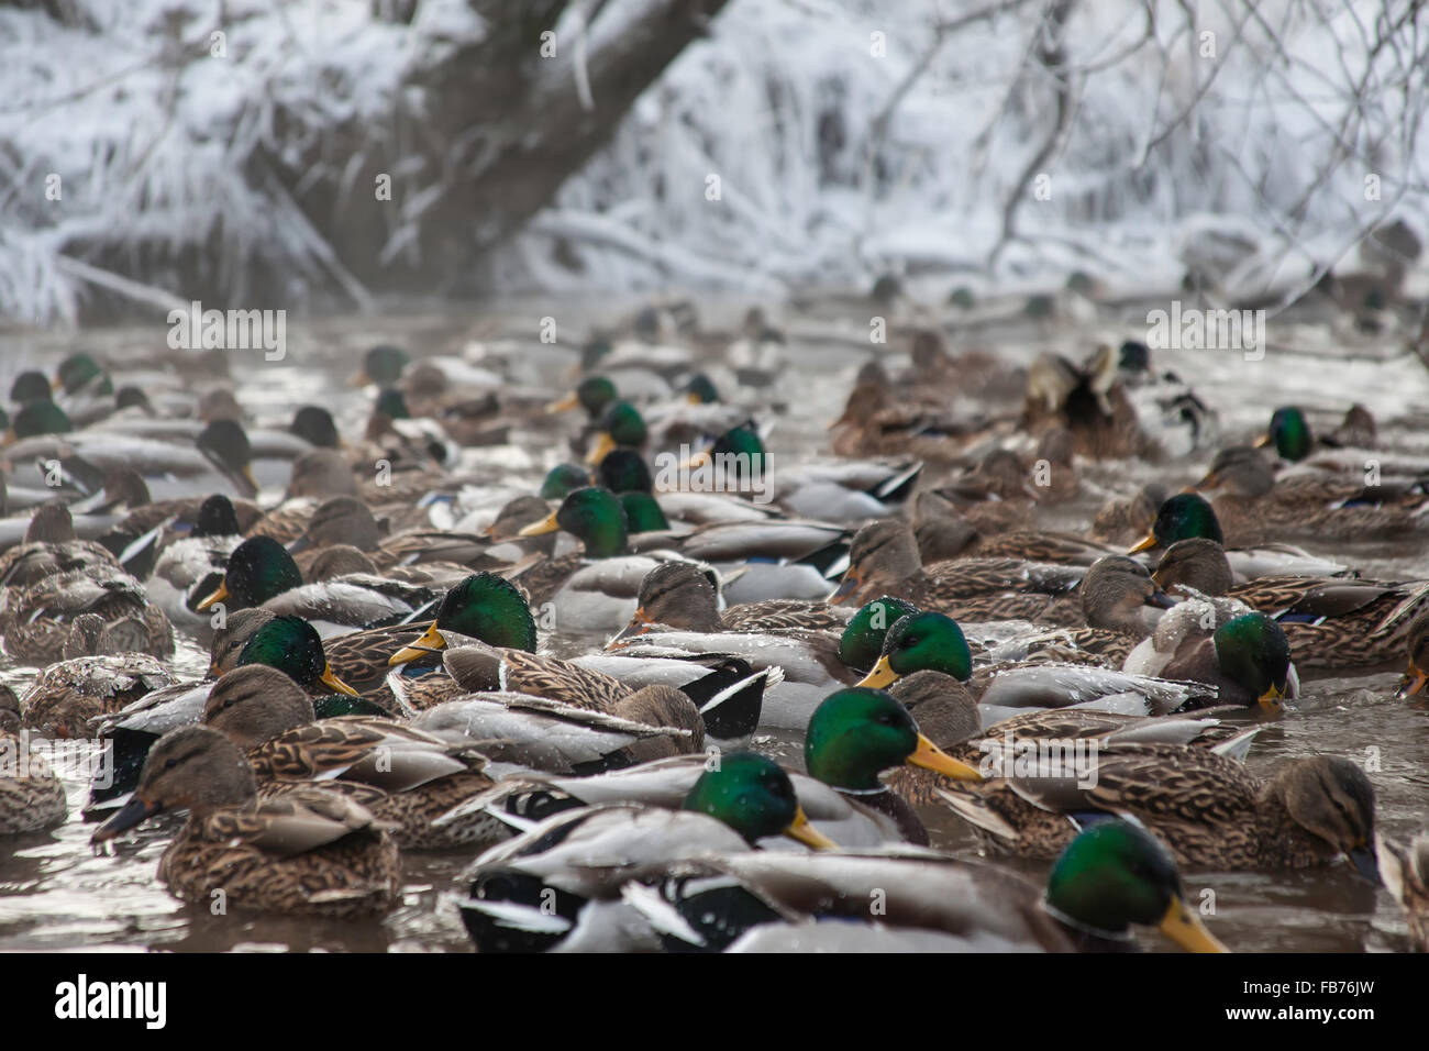
M 805 769 L 826 785 L 872 792 L 883 786 L 879 774 L 905 764 L 959 781 L 982 779 L 919 734 L 912 714 L 882 689 L 840 689 L 809 719 Z

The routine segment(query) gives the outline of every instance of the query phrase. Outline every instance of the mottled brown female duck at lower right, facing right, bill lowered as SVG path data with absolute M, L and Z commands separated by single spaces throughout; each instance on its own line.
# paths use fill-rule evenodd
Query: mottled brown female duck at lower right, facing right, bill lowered
M 1145 822 L 1182 865 L 1216 869 L 1309 868 L 1348 857 L 1375 869 L 1375 789 L 1339 756 L 1280 765 L 1262 782 L 1212 749 L 1123 744 L 1102 746 L 1095 778 L 1010 774 L 939 789 L 953 812 L 999 849 L 1053 857 L 1076 834 L 1077 815 Z M 1095 781 L 1095 784 L 1090 784 Z

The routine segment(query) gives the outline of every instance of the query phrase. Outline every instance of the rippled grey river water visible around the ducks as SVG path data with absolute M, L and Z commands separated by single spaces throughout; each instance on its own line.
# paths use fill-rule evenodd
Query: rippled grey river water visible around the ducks
M 723 320 L 735 319 L 735 305 L 723 306 Z M 742 305 L 740 305 L 742 306 Z M 583 330 L 592 316 L 583 305 L 562 303 L 560 323 Z M 599 305 L 609 317 L 612 305 Z M 377 319 L 332 319 L 320 323 L 289 323 L 289 355 L 282 363 L 264 363 L 259 352 L 234 352 L 233 383 L 244 408 L 259 422 L 286 425 L 292 408 L 314 400 L 327 405 L 339 426 L 350 433 L 366 418 L 363 392 L 346 385 L 360 353 L 376 340 L 392 340 L 424 353 L 460 353 L 473 336 L 492 337 L 506 332 L 534 335 L 547 303 L 507 303 L 499 315 L 426 310 L 387 315 Z M 709 316 L 709 313 L 706 313 Z M 1080 356 L 1100 333 L 1136 335 L 1145 312 L 1132 312 L 1125 329 L 1073 330 L 1010 325 L 982 329 L 959 346 L 995 349 L 1010 360 L 1026 362 L 1040 349 L 1053 346 Z M 827 320 L 827 319 L 826 319 Z M 830 322 L 832 323 L 832 322 Z M 849 316 L 842 330 L 852 340 L 867 332 L 866 319 Z M 51 333 L 0 333 L 0 380 L 7 388 L 23 367 L 53 370 L 60 355 L 76 346 L 97 350 L 116 362 L 144 357 L 163 349 L 160 326 L 87 330 L 79 336 Z M 1403 455 L 1429 452 L 1429 429 L 1419 406 L 1429 395 L 1429 373 L 1413 357 L 1399 355 L 1392 340 L 1360 340 L 1346 345 L 1323 326 L 1298 326 L 1272 320 L 1272 349 L 1260 362 L 1248 362 L 1228 352 L 1175 352 L 1157 356 L 1160 367 L 1176 369 L 1195 379 L 1198 393 L 1220 413 L 1228 436 L 1245 436 L 1263 426 L 1275 405 L 1343 412 L 1350 400 L 1369 406 L 1380 425 L 1380 442 Z M 1290 350 L 1288 347 L 1296 347 Z M 795 365 L 777 390 L 755 395 L 763 416 L 773 413 L 777 428 L 769 446 L 775 456 L 803 459 L 826 448 L 827 422 L 842 409 L 853 370 L 866 356 L 855 343 L 823 340 L 795 342 L 789 349 Z M 1333 355 L 1355 355 L 1346 362 Z M 1330 355 L 1330 356 L 1328 356 Z M 516 359 L 516 380 L 557 386 L 570 366 L 539 345 Z M 572 425 L 573 426 L 573 425 Z M 550 436 L 522 435 L 519 449 L 473 453 L 474 463 L 512 472 L 533 482 L 549 465 L 564 458 L 564 449 Z M 1092 490 L 1076 505 L 1045 520 L 1049 526 L 1082 528 L 1096 506 L 1097 488 L 1125 489 L 1129 482 L 1160 478 L 1185 485 L 1203 472 L 1209 453 L 1186 462 L 1150 466 L 1145 463 L 1102 463 L 1086 469 Z M 777 460 L 775 463 L 777 469 Z M 264 479 L 266 482 L 269 479 Z M 273 479 L 280 488 L 282 479 Z M 273 493 L 264 493 L 276 496 Z M 1312 553 L 1335 556 L 1362 568 L 1366 575 L 1388 578 L 1429 576 L 1429 546 L 1422 541 L 1405 545 L 1343 545 L 1318 548 Z M 579 651 L 582 639 L 559 639 L 564 652 Z M 16 668 L 0 656 L 0 681 L 23 694 L 36 669 Z M 196 676 L 206 663 L 203 652 L 187 643 L 176 661 L 180 673 Z M 1395 837 L 1405 837 L 1429 824 L 1429 709 L 1396 699 L 1398 676 L 1390 672 L 1353 678 L 1320 678 L 1305 684 L 1305 696 L 1283 719 L 1258 738 L 1249 758 L 1253 771 L 1265 774 L 1286 758 L 1312 754 L 1342 754 L 1362 764 L 1378 759 L 1370 778 L 1378 792 L 1379 824 Z M 800 748 L 792 736 L 772 736 L 760 746 L 792 766 L 800 762 Z M 1370 751 L 1373 749 L 1373 751 Z M 89 844 L 91 825 L 79 819 L 87 795 L 87 779 L 66 776 L 70 821 L 50 832 L 0 841 L 0 949 L 167 949 L 167 951 L 467 951 L 469 942 L 457 917 L 456 901 L 464 888 L 457 884 L 467 854 L 409 854 L 404 857 L 404 889 L 397 909 L 380 921 L 314 922 L 234 914 L 210 915 L 206 908 L 187 907 L 171 898 L 157 882 L 159 857 L 176 821 L 167 816 L 126 837 L 109 851 L 96 854 Z M 953 854 L 976 854 L 962 825 L 936 809 L 925 809 L 935 844 Z M 1009 862 L 1040 881 L 1039 864 Z M 1303 872 L 1186 872 L 1192 901 L 1213 901 L 1208 919 L 1215 932 L 1239 951 L 1396 951 L 1406 945 L 1406 927 L 1395 902 L 1345 869 Z M 1213 895 L 1208 898 L 1206 895 Z

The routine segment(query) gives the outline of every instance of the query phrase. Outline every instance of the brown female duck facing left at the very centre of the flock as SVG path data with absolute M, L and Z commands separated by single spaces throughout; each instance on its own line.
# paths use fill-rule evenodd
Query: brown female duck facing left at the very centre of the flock
M 634 616 L 612 639 L 643 635 L 657 626 L 719 633 L 769 631 L 843 631 L 849 615 L 825 602 L 770 601 L 719 608 L 719 593 L 707 573 L 689 562 L 666 562 L 640 582 Z

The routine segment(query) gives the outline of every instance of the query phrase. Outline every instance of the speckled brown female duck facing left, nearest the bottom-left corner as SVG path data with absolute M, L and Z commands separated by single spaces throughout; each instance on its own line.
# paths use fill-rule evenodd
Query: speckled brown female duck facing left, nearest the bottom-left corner
M 154 745 L 133 799 L 94 841 L 183 809 L 189 821 L 159 862 L 159 878 L 183 901 L 336 919 L 397 901 L 397 845 L 367 809 L 322 788 L 260 801 L 243 754 L 207 726 Z

